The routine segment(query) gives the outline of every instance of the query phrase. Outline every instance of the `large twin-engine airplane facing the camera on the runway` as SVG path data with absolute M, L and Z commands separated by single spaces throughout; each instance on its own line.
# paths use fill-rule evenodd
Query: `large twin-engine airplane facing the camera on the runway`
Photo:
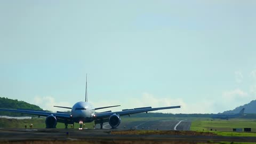
M 66 113 L 62 111 L 57 111 L 57 113 L 52 113 L 49 111 L 35 111 L 35 110 L 24 110 L 24 109 L 0 109 L 0 111 L 9 111 L 13 113 L 22 113 L 22 114 L 30 114 L 45 116 L 45 125 L 46 128 L 52 129 L 56 128 L 57 122 L 64 123 L 65 128 L 67 129 L 68 124 L 74 123 L 90 123 L 94 121 L 94 124 L 100 124 L 100 129 L 103 127 L 103 123 L 108 122 L 112 129 L 116 129 L 116 127 L 121 123 L 121 116 L 131 115 L 137 113 L 148 113 L 148 111 L 162 110 L 162 109 L 173 109 L 180 108 L 181 106 L 171 106 L 171 107 L 141 107 L 141 108 L 133 108 L 133 109 L 123 109 L 122 111 L 104 111 L 101 113 L 95 112 L 98 109 L 105 109 L 117 106 L 107 106 L 107 107 L 98 107 L 94 108 L 91 103 L 88 102 L 87 97 L 87 75 L 86 75 L 86 88 L 85 88 L 85 101 L 79 101 L 75 103 L 73 107 L 62 107 L 62 106 L 54 106 L 59 108 L 71 109 L 71 113 Z

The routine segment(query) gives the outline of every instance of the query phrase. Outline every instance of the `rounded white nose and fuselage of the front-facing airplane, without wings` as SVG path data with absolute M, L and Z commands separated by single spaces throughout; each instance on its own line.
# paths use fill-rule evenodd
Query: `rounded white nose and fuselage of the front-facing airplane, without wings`
M 91 103 L 79 101 L 71 109 L 71 115 L 74 122 L 79 123 L 83 121 L 84 123 L 90 123 L 93 121 L 93 115 L 95 114 L 95 109 Z

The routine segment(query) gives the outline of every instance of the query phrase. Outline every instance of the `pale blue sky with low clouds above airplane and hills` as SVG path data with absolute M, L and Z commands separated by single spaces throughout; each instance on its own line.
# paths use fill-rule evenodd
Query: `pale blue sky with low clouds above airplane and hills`
M 0 97 L 63 110 L 84 101 L 87 74 L 94 107 L 234 109 L 256 99 L 255 7 L 0 0 Z

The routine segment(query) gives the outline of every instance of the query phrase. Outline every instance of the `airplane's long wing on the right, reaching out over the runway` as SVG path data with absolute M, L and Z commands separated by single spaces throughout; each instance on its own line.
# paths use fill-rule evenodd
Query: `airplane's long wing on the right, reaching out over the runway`
M 134 109 L 123 109 L 122 111 L 115 111 L 115 112 L 106 112 L 106 113 L 96 113 L 94 115 L 94 119 L 104 119 L 108 118 L 109 116 L 116 114 L 119 116 L 124 115 L 131 115 L 131 114 L 138 114 L 138 113 L 147 113 L 148 111 L 155 111 L 161 109 L 172 109 L 172 108 L 180 108 L 180 106 L 173 106 L 173 107 L 159 107 L 159 108 L 151 108 L 151 107 L 143 107 L 143 108 L 134 108 Z

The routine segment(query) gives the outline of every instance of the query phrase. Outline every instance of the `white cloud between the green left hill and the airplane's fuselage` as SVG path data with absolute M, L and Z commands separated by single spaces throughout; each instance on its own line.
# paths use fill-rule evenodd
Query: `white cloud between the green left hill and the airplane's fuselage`
M 59 101 L 56 102 L 55 99 L 51 96 L 47 97 L 40 97 L 36 96 L 34 97 L 34 104 L 43 108 L 44 110 L 51 110 L 53 112 L 55 111 L 67 111 L 68 109 L 63 109 L 63 108 L 57 108 L 53 106 L 63 106 L 63 107 L 72 107 L 71 103 L 66 102 L 66 101 Z

